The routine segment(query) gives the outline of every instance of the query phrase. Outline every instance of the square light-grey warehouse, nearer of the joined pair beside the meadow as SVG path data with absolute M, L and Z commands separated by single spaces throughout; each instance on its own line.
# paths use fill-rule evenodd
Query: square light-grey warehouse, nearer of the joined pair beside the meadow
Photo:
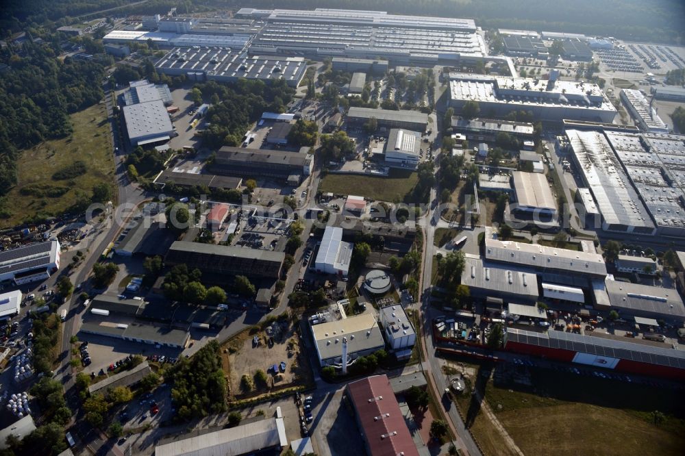
M 133 146 L 168 141 L 174 134 L 169 112 L 162 100 L 123 107 L 126 131 Z

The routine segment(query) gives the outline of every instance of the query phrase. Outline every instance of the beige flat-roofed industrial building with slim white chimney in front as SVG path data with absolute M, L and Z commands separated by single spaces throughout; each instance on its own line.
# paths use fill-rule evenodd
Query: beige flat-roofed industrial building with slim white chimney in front
M 314 318 L 314 317 L 312 317 Z M 314 322 L 316 321 L 316 322 Z M 360 314 L 342 320 L 311 320 L 314 347 L 321 366 L 342 366 L 343 344 L 347 344 L 347 364 L 385 346 L 375 316 Z

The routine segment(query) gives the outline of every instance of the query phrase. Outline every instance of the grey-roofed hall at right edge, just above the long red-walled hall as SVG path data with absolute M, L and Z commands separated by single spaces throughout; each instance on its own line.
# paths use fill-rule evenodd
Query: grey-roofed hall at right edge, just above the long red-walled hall
M 685 318 L 685 305 L 677 290 L 609 279 L 604 283 L 612 308 L 627 313 Z

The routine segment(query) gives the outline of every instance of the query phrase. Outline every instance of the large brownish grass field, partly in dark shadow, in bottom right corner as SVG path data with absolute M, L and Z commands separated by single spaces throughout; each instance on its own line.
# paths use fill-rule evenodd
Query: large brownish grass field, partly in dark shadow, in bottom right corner
M 545 369 L 532 369 L 530 375 L 535 389 L 493 381 L 485 386 L 490 409 L 524 454 L 682 454 L 682 392 Z M 458 396 L 458 403 L 466 411 L 470 398 Z M 653 422 L 655 410 L 664 414 L 660 425 Z M 471 433 L 485 455 L 507 454 L 482 411 Z

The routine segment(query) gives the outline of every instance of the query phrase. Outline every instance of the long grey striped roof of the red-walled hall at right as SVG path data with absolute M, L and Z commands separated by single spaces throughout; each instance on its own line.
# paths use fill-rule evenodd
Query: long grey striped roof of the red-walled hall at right
M 550 330 L 547 333 L 536 333 L 515 328 L 507 328 L 507 340 L 550 349 L 569 350 L 685 369 L 685 351 L 634 342 L 597 338 L 591 335 L 566 333 L 564 331 Z

